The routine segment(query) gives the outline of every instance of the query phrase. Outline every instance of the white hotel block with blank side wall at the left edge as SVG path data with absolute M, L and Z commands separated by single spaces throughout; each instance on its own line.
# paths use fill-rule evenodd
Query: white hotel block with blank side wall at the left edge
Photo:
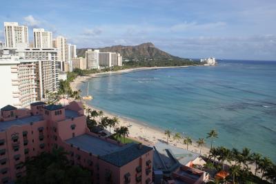
M 34 62 L 23 61 L 19 57 L 3 55 L 0 57 L 0 72 L 3 76 L 1 85 L 5 90 L 0 91 L 0 105 L 14 105 L 17 108 L 27 108 L 37 100 L 35 92 Z

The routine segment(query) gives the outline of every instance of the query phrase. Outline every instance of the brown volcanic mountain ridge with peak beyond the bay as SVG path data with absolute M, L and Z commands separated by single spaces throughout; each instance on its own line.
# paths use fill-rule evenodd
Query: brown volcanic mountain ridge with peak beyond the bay
M 100 52 L 118 52 L 123 56 L 123 65 L 130 67 L 202 65 L 199 61 L 172 56 L 156 48 L 153 43 L 142 43 L 134 46 L 115 45 L 106 48 L 81 48 L 77 49 L 78 57 L 85 57 L 88 49 L 97 49 Z

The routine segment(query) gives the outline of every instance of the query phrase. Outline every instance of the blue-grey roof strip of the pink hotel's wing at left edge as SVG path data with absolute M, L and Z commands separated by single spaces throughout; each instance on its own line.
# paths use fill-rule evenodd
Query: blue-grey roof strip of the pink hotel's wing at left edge
M 0 132 L 7 130 L 12 125 L 25 125 L 30 122 L 36 122 L 36 121 L 41 121 L 41 120 L 43 120 L 42 116 L 36 115 L 36 116 L 28 116 L 28 117 L 21 118 L 21 119 L 14 119 L 11 121 L 2 121 L 2 122 L 0 122 Z

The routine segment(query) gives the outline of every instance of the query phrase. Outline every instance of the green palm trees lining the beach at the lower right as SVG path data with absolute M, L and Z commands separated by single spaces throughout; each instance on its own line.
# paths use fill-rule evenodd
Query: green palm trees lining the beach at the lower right
M 172 134 L 170 130 L 165 131 L 167 141 L 170 139 L 170 136 L 168 136 L 170 134 Z M 244 147 L 241 151 L 236 148 L 229 150 L 224 146 L 214 147 L 213 139 L 218 138 L 218 132 L 211 130 L 207 135 L 207 138 L 211 139 L 211 148 L 208 156 L 202 156 L 206 161 L 203 170 L 210 173 L 212 177 L 221 170 L 229 173 L 229 176 L 224 180 L 210 181 L 209 183 L 276 183 L 276 165 L 268 157 L 253 153 L 247 147 Z M 187 146 L 187 150 L 188 145 L 193 142 L 189 136 L 181 138 L 180 133 L 175 133 L 172 139 L 174 141 L 182 139 L 184 145 Z M 201 147 L 205 143 L 203 138 L 197 141 L 197 145 L 200 147 L 200 154 Z M 250 164 L 254 165 L 255 172 L 250 171 Z

